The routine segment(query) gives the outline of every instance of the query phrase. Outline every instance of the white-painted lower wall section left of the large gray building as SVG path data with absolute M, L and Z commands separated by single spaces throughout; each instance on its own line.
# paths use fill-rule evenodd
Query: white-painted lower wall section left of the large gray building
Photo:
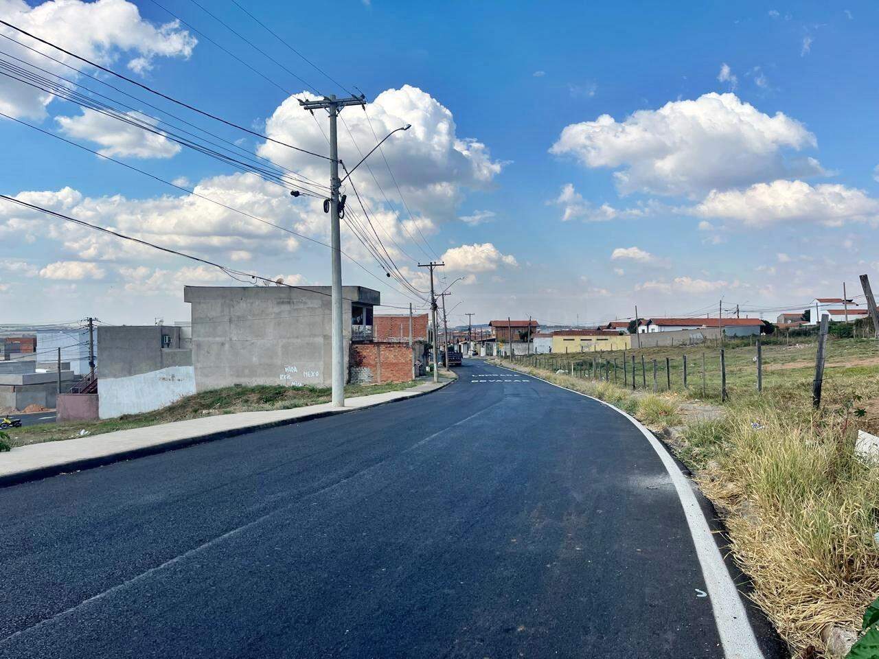
M 98 416 L 110 419 L 163 408 L 195 393 L 193 366 L 169 366 L 125 378 L 98 381 Z

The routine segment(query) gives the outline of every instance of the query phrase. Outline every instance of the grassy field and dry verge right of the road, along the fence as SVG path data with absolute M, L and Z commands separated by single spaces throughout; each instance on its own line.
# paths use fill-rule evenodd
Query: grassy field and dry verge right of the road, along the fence
M 875 432 L 879 427 L 879 344 L 862 339 L 830 342 L 818 410 L 811 406 L 815 350 L 814 343 L 765 345 L 764 388 L 758 395 L 756 349 L 727 344 L 730 400 L 723 404 L 722 416 L 708 420 L 687 416 L 699 408 L 694 399 L 720 402 L 719 368 L 711 367 L 719 361 L 715 349 L 705 351 L 704 397 L 700 348 L 643 350 L 649 389 L 652 359 L 662 369 L 657 377 L 661 389 L 665 357 L 672 360 L 672 391 L 658 395 L 642 393 L 642 351 L 635 351 L 636 394 L 614 386 L 613 369 L 610 382 L 555 373 L 556 368 L 570 373 L 570 358 L 563 355 L 556 355 L 555 363 L 541 362 L 548 368 L 527 367 L 612 402 L 655 431 L 683 424 L 670 442 L 672 449 L 721 511 L 730 548 L 752 577 L 752 597 L 795 653 L 809 648 L 822 652 L 821 632 L 829 624 L 860 628 L 861 614 L 879 593 L 879 465 L 854 453 L 857 430 Z M 685 351 L 687 390 L 680 373 Z M 592 355 L 577 357 L 583 362 Z M 579 368 L 575 373 L 585 375 Z M 868 415 L 858 416 L 857 409 L 868 410 Z

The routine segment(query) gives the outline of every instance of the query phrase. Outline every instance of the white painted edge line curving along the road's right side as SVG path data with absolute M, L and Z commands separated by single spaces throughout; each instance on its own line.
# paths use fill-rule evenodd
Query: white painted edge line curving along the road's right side
M 500 366 L 506 368 L 506 366 Z M 508 371 L 514 369 L 507 368 Z M 519 371 L 514 371 L 520 373 Z M 530 375 L 530 373 L 529 373 Z M 745 612 L 745 605 L 742 604 L 742 598 L 738 594 L 736 584 L 733 583 L 730 571 L 723 562 L 723 556 L 717 548 L 711 527 L 708 526 L 708 520 L 696 501 L 693 489 L 694 485 L 684 474 L 680 473 L 678 465 L 675 464 L 672 456 L 665 449 L 653 433 L 647 430 L 643 424 L 634 416 L 628 415 L 622 409 L 611 405 L 609 402 L 595 398 L 594 396 L 584 394 L 568 387 L 562 387 L 555 382 L 543 380 L 536 375 L 530 375 L 535 380 L 541 380 L 548 385 L 570 391 L 574 394 L 592 399 L 602 405 L 606 405 L 610 409 L 619 412 L 625 416 L 635 427 L 642 432 L 647 438 L 653 450 L 657 452 L 659 460 L 662 460 L 665 471 L 672 479 L 674 489 L 678 491 L 680 505 L 684 509 L 686 517 L 686 525 L 690 527 L 690 535 L 693 536 L 693 545 L 696 549 L 696 555 L 699 557 L 699 564 L 702 568 L 702 576 L 705 578 L 705 586 L 708 588 L 708 597 L 711 599 L 711 609 L 714 612 L 715 622 L 717 625 L 717 634 L 720 636 L 720 642 L 723 645 L 723 655 L 726 659 L 764 659 L 763 653 L 757 644 L 757 638 L 754 636 L 754 630 L 748 614 Z

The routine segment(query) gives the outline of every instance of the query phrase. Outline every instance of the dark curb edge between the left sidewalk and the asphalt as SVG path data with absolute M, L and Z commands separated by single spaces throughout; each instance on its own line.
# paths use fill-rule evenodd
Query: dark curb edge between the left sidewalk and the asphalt
M 193 446 L 197 444 L 205 444 L 207 442 L 213 442 L 218 439 L 228 439 L 233 437 L 238 437 L 239 435 L 246 435 L 248 432 L 254 431 L 264 431 L 272 428 L 279 428 L 280 426 L 285 425 L 295 425 L 300 424 L 305 421 L 312 421 L 314 419 L 323 418 L 325 416 L 335 416 L 339 414 L 348 414 L 350 412 L 357 412 L 360 409 L 372 409 L 381 407 L 382 405 L 389 405 L 390 403 L 399 402 L 399 401 L 409 401 L 412 398 L 419 398 L 423 395 L 432 394 L 440 389 L 448 387 L 452 384 L 457 378 L 452 380 L 448 380 L 447 382 L 439 383 L 439 387 L 434 389 L 428 389 L 425 391 L 417 391 L 411 392 L 409 395 L 400 396 L 399 398 L 393 398 L 389 401 L 381 401 L 375 402 L 370 405 L 364 405 L 362 407 L 357 408 L 343 408 L 343 409 L 326 409 L 320 412 L 315 412 L 313 414 L 306 414 L 302 416 L 296 416 L 294 418 L 289 419 L 280 419 L 278 421 L 270 421 L 264 424 L 253 424 L 242 426 L 239 428 L 229 428 L 224 431 L 214 431 L 208 432 L 201 435 L 193 435 L 193 437 L 187 438 L 178 438 L 178 439 L 170 439 L 167 442 L 163 442 L 161 444 L 154 444 L 149 446 L 142 446 L 140 448 L 129 448 L 122 451 L 118 451 L 115 453 L 106 453 L 105 455 L 91 457 L 91 458 L 80 458 L 76 460 L 65 460 L 63 462 L 55 462 L 51 465 L 46 465 L 45 467 L 35 467 L 31 469 L 24 469 L 18 472 L 12 472 L 10 474 L 0 474 L 0 488 L 7 488 L 12 485 L 20 485 L 25 482 L 33 482 L 40 481 L 44 478 L 50 478 L 52 476 L 57 476 L 60 474 L 69 474 L 70 472 L 75 471 L 83 471 L 84 469 L 93 469 L 95 467 L 105 467 L 106 465 L 112 465 L 114 462 L 122 462 L 124 460 L 134 460 L 135 458 L 143 458 L 148 455 L 157 455 L 159 453 L 167 453 L 169 451 L 177 451 L 181 448 L 186 448 L 187 446 Z M 425 383 L 425 384 L 432 384 Z M 418 385 L 421 387 L 422 385 Z M 415 388 L 415 387 L 411 387 Z M 411 389 L 403 389 L 403 392 L 410 392 Z M 149 426 L 145 426 L 149 427 Z M 109 433 L 105 433 L 109 434 Z M 95 435 L 94 437 L 100 437 L 100 435 Z M 70 441 L 81 441 L 79 439 L 72 439 Z

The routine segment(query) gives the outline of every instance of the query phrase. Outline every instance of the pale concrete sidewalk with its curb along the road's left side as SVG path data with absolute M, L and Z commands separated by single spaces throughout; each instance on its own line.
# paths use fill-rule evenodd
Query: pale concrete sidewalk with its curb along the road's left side
M 375 407 L 387 402 L 430 394 L 453 381 L 453 379 L 440 380 L 438 384 L 426 382 L 402 391 L 348 398 L 345 400 L 344 408 L 334 408 L 332 403 L 326 402 L 295 409 L 239 412 L 19 446 L 9 453 L 0 453 L 0 488 L 57 474 L 101 467 L 120 460 L 173 451 L 214 439 L 235 437 L 251 431 Z

